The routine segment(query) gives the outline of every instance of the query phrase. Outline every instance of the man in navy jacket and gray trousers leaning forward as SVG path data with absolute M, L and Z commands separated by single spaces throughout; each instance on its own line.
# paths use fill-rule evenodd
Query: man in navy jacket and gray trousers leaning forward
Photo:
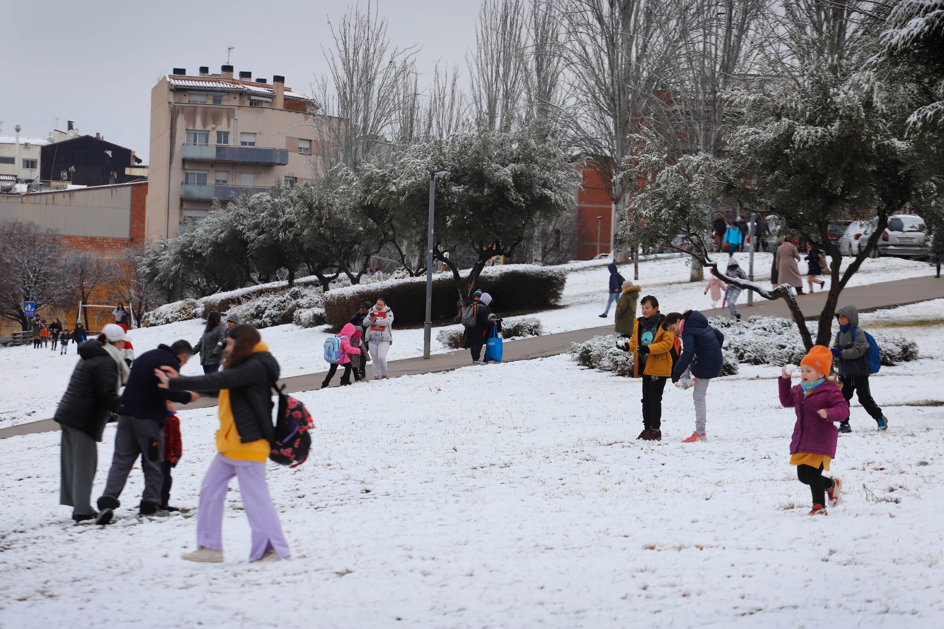
M 164 482 L 161 461 L 164 457 L 164 418 L 167 416 L 165 401 L 188 404 L 200 396 L 190 391 L 160 389 L 154 370 L 170 367 L 179 372 L 193 354 L 190 343 L 178 340 L 170 347 L 160 344 L 158 349 L 144 352 L 132 363 L 118 406 L 114 455 L 105 491 L 98 499 L 96 524 L 108 524 L 114 509 L 121 505 L 118 496 L 125 488 L 127 475 L 139 455 L 144 472 L 140 515 L 167 515 L 160 511 L 160 488 Z

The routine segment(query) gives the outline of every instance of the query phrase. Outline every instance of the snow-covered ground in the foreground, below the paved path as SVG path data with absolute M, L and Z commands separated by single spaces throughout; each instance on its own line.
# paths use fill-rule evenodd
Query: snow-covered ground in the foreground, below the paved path
M 901 332 L 941 356 L 944 326 Z M 294 555 L 280 564 L 247 563 L 235 481 L 226 563 L 193 564 L 193 512 L 132 517 L 138 472 L 119 521 L 76 525 L 59 435 L 4 439 L 0 626 L 944 626 L 944 407 L 904 406 L 944 399 L 944 362 L 873 377 L 889 429 L 853 406 L 832 471 L 845 500 L 817 519 L 776 372 L 713 383 L 695 444 L 690 392 L 667 388 L 664 440 L 638 441 L 639 381 L 565 356 L 300 394 L 312 457 L 268 471 Z M 180 418 L 171 502 L 194 509 L 215 410 Z

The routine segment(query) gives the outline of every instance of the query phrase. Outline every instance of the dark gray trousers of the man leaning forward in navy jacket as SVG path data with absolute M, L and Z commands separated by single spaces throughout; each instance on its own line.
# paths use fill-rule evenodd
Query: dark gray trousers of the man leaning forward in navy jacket
M 152 444 L 156 443 L 156 447 Z M 157 452 L 154 452 L 154 451 Z M 160 462 L 164 459 L 164 431 L 157 420 L 143 420 L 129 415 L 118 417 L 118 430 L 115 432 L 115 452 L 111 457 L 109 480 L 102 496 L 118 500 L 125 488 L 127 475 L 134 467 L 134 462 L 141 456 L 141 469 L 144 472 L 144 492 L 142 503 L 160 505 L 160 487 L 164 482 L 164 472 Z

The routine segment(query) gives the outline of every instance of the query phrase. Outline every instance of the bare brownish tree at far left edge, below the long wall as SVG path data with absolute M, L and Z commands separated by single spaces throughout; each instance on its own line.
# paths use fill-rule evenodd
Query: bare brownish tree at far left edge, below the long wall
M 24 302 L 35 302 L 37 312 L 61 305 L 69 292 L 59 266 L 63 248 L 59 234 L 36 223 L 0 223 L 0 317 L 26 330 Z

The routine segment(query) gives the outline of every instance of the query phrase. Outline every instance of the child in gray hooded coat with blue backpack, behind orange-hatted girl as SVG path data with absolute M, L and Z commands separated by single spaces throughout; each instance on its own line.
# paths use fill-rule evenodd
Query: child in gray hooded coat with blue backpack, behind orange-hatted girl
M 838 365 L 839 382 L 846 402 L 851 401 L 852 392 L 858 394 L 859 403 L 878 425 L 879 430 L 888 429 L 885 413 L 875 404 L 868 388 L 868 339 L 859 327 L 859 311 L 855 306 L 842 306 L 836 310 L 839 331 L 835 333 L 833 357 Z M 840 433 L 851 433 L 850 416 L 839 423 Z

